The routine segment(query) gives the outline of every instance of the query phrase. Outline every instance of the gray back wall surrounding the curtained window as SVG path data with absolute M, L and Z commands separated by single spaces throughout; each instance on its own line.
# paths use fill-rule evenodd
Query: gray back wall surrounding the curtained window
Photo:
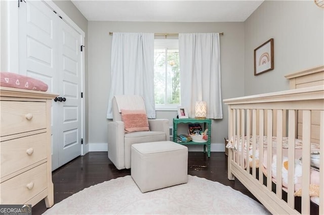
M 89 143 L 107 143 L 106 119 L 110 88 L 109 32 L 190 33 L 224 32 L 221 43 L 222 97 L 244 95 L 244 23 L 171 23 L 171 22 L 97 22 L 88 24 L 89 43 Z M 223 105 L 224 118 L 212 124 L 212 143 L 224 146 L 227 137 L 227 107 Z M 156 118 L 172 119 L 174 111 L 158 111 Z M 221 148 L 221 150 L 224 149 Z

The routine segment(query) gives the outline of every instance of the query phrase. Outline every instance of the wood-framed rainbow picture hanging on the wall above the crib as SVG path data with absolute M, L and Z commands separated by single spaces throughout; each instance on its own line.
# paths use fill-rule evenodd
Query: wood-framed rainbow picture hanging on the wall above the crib
M 273 38 L 254 49 L 254 75 L 274 69 Z

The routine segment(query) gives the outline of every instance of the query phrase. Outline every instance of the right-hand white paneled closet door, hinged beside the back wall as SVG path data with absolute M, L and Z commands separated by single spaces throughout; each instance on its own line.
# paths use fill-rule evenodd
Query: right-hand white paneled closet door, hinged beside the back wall
M 62 117 L 59 118 L 60 133 L 63 141 L 59 146 L 59 166 L 66 164 L 71 159 L 81 154 L 82 135 L 82 44 L 81 35 L 67 23 L 60 22 L 59 70 L 60 81 L 58 83 L 60 96 L 65 101 L 59 102 Z

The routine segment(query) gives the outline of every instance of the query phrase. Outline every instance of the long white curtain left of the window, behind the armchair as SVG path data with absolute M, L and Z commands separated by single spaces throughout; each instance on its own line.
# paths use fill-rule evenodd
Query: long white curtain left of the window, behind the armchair
M 113 33 L 107 119 L 114 95 L 143 96 L 147 117 L 155 118 L 154 33 Z

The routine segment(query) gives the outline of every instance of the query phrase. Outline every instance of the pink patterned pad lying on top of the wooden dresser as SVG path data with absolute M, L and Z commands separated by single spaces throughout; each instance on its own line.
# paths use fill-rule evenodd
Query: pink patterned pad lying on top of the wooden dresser
M 48 90 L 48 85 L 41 80 L 10 72 L 0 72 L 0 86 L 38 91 Z

